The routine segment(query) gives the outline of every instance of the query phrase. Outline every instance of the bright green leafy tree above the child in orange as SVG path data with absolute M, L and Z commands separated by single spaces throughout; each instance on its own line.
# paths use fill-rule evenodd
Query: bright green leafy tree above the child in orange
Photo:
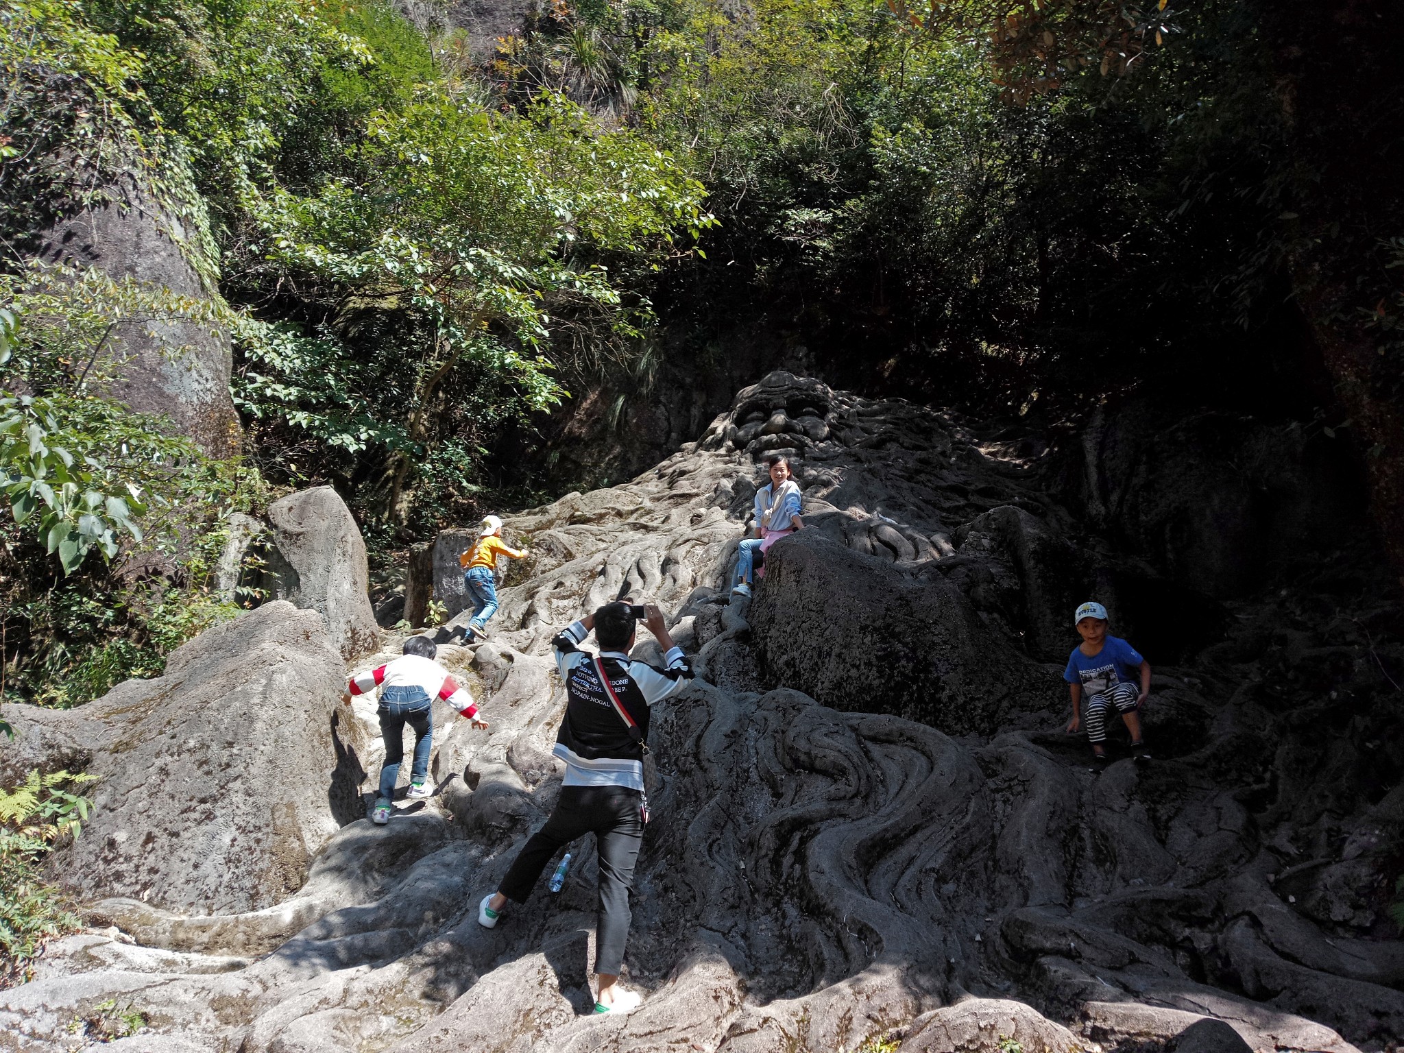
M 264 258 L 317 289 L 329 310 L 350 296 L 362 313 L 393 314 L 416 334 L 414 348 L 396 355 L 399 378 L 386 386 L 395 395 L 368 414 L 403 421 L 389 494 L 402 517 L 406 476 L 435 437 L 434 404 L 455 369 L 494 378 L 489 402 L 555 404 L 563 389 L 550 351 L 559 357 L 560 333 L 600 348 L 639 340 L 649 323 L 647 300 L 612 281 L 609 254 L 661 261 L 677 236 L 695 237 L 709 222 L 701 185 L 665 153 L 600 129 L 559 95 L 525 114 L 461 97 L 380 114 L 354 167 L 365 177 L 275 198 L 263 220 Z M 326 361 L 333 347 L 323 336 L 310 358 Z M 271 361 L 257 347 L 250 357 Z M 270 392 L 268 376 L 246 378 L 246 403 L 267 416 L 258 395 Z M 361 434 L 369 441 L 376 431 Z

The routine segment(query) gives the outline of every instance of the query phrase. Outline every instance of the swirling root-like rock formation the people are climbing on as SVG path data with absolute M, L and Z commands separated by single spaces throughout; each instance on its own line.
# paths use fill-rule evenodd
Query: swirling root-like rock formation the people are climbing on
M 731 602 L 774 449 L 796 456 L 810 529 Z M 458 643 L 462 615 L 441 629 L 491 730 L 435 713 L 434 802 L 348 821 L 272 906 L 100 903 L 112 928 L 0 993 L 0 1049 L 66 1049 L 70 1022 L 114 1000 L 149 1019 L 114 1049 L 143 1050 L 1130 1053 L 1181 1033 L 1216 1047 L 1226 1032 L 1192 1028 L 1206 1018 L 1264 1052 L 1396 1039 L 1404 943 L 1380 893 L 1404 790 L 1377 781 L 1404 736 L 1387 678 L 1351 664 L 1344 621 L 1313 636 L 1290 598 L 1264 601 L 1192 665 L 1157 664 L 1157 762 L 1091 775 L 1059 730 L 1070 598 L 1095 590 L 1129 622 L 1143 587 L 1224 612 L 1082 532 L 1049 477 L 951 417 L 767 378 L 656 469 L 507 521 L 534 556 L 491 639 Z M 647 998 L 611 1019 L 588 1015 L 588 840 L 560 894 L 491 931 L 476 903 L 559 788 L 548 642 L 623 584 L 674 612 L 706 681 L 654 719 L 664 785 L 626 960 Z M 1192 644 L 1164 611 L 1141 619 L 1153 657 Z M 1400 657 L 1384 639 L 1375 654 Z M 1304 682 L 1332 661 L 1348 702 Z M 376 771 L 373 746 L 359 760 Z

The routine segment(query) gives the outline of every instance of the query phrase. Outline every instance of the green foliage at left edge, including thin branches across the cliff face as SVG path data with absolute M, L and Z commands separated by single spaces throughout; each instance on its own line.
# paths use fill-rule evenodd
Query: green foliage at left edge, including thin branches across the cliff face
M 73 705 L 160 673 L 239 609 L 211 594 L 211 571 L 225 517 L 263 484 L 101 397 L 124 368 L 115 333 L 213 326 L 227 309 L 45 265 L 0 275 L 0 701 Z

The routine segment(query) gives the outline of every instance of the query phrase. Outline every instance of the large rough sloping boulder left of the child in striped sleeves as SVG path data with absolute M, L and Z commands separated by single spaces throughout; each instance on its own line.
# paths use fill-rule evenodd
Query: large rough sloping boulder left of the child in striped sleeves
M 81 709 L 8 708 L 21 747 L 41 727 L 67 733 L 98 779 L 91 820 L 49 872 L 84 899 L 183 914 L 295 893 L 338 816 L 364 814 L 365 747 L 338 705 L 343 675 L 322 619 L 271 602 L 178 647 L 164 675 Z

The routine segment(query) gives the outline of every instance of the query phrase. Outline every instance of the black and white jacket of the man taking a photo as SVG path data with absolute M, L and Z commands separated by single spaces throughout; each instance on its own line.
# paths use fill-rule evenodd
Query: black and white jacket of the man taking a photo
M 552 753 L 566 762 L 563 786 L 628 786 L 643 789 L 643 743 L 649 740 L 649 708 L 691 680 L 681 647 L 664 657 L 667 668 L 633 661 L 623 651 L 601 651 L 600 660 L 619 703 L 639 726 L 635 741 L 595 674 L 594 657 L 580 650 L 588 629 L 574 622 L 556 635 L 550 647 L 566 681 L 566 716 Z

